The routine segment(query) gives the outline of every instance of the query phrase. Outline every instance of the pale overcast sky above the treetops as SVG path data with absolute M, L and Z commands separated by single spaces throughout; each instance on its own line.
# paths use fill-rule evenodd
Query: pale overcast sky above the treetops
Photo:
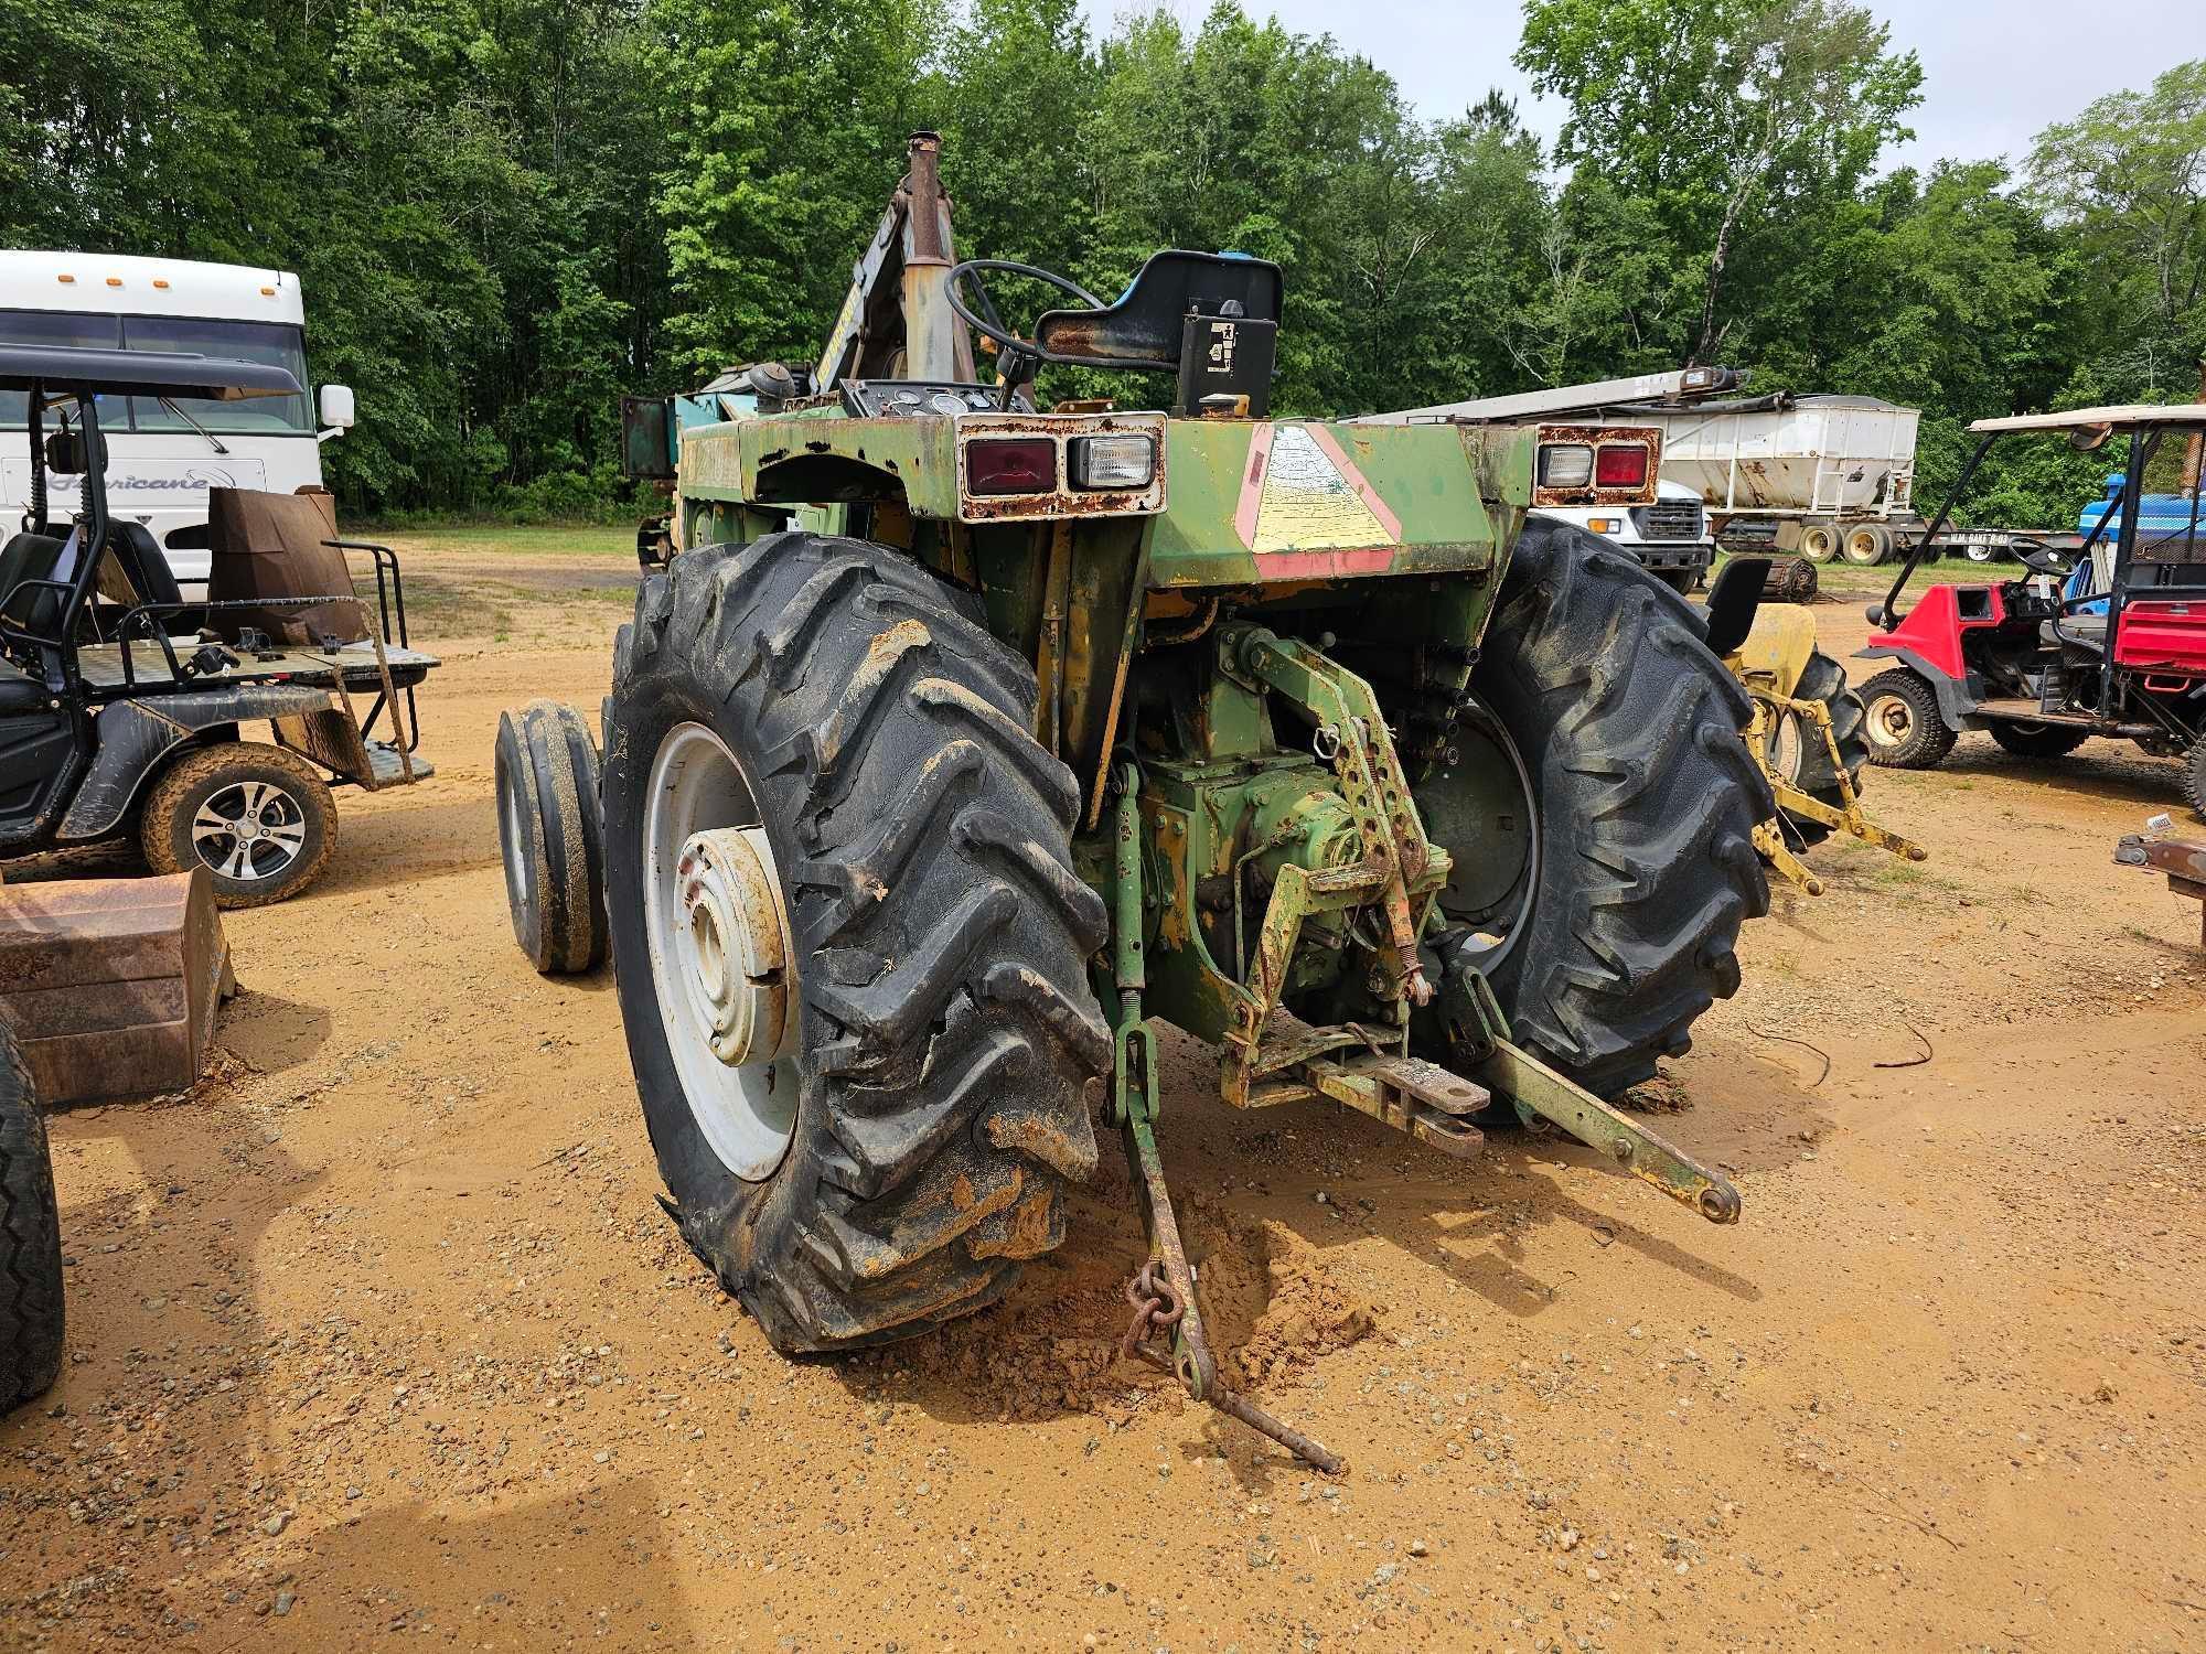
M 1207 0 L 1167 2 L 1189 22 L 1209 9 Z M 1099 29 L 1127 9 L 1123 0 L 1083 4 Z M 1562 123 L 1562 108 L 1535 99 L 1509 62 L 1518 0 L 1242 0 L 1242 9 L 1302 35 L 1330 33 L 1388 71 L 1427 119 L 1460 115 L 1500 86 L 1542 137 Z M 1888 165 L 2021 161 L 2047 121 L 2206 57 L 2206 0 L 1868 0 L 1868 9 L 1891 24 L 1893 46 L 1924 64 L 1917 139 L 1888 152 Z

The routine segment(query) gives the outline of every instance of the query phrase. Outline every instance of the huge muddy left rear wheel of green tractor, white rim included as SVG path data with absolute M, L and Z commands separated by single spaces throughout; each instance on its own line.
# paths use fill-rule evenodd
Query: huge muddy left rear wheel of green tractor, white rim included
M 666 1206 L 777 1350 L 993 1303 L 1094 1171 L 1107 922 L 1032 717 L 979 602 L 885 547 L 772 534 L 638 589 L 604 732 L 613 975 Z M 743 1067 L 699 1010 L 713 878 L 785 915 L 737 922 Z

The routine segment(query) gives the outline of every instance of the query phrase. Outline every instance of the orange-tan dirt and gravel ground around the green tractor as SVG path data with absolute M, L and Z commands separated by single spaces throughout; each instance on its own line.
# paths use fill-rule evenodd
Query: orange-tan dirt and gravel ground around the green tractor
M 1218 1334 L 1326 1482 L 1112 1358 L 1123 1173 L 858 1361 L 777 1358 L 679 1244 L 611 979 L 527 968 L 490 803 L 499 710 L 604 688 L 611 540 L 408 562 L 439 774 L 229 915 L 207 1083 L 53 1120 L 0 1645 L 2206 1647 L 2206 955 L 2109 856 L 2171 765 L 1873 774 L 1932 860 L 1816 851 L 1672 1065 L 1736 1228 L 1575 1145 L 1238 1116 L 1167 1037 Z

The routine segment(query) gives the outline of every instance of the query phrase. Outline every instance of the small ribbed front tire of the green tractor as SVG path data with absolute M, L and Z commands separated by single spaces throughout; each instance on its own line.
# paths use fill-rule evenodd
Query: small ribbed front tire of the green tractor
M 514 942 L 547 977 L 604 959 L 598 743 L 565 701 L 499 712 L 499 858 Z

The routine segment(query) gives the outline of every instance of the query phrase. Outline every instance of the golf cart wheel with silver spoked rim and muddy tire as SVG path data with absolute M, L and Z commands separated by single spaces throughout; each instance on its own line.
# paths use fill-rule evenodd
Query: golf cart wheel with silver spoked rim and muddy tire
M 157 873 L 205 862 L 216 906 L 287 902 L 338 849 L 338 801 L 296 752 L 223 741 L 185 752 L 146 794 L 139 842 Z

